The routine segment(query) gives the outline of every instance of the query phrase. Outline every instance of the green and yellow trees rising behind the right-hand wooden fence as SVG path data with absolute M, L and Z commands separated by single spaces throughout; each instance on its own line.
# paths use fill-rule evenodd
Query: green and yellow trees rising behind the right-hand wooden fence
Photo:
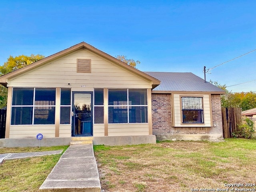
M 256 93 L 254 92 L 242 92 L 242 93 L 232 93 L 226 90 L 226 85 L 221 85 L 216 81 L 210 80 L 210 83 L 226 91 L 225 94 L 221 96 L 221 106 L 222 107 L 238 107 L 242 111 L 256 108 Z

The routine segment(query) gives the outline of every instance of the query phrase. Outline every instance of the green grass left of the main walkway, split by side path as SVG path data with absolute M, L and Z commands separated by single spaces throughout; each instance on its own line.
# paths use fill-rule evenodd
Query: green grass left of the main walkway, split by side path
M 1 148 L 1 153 L 66 150 L 68 146 L 41 148 Z M 9 149 L 9 150 L 8 150 Z M 63 152 L 64 152 L 63 151 Z M 0 164 L 0 191 L 36 192 L 62 154 L 5 160 Z

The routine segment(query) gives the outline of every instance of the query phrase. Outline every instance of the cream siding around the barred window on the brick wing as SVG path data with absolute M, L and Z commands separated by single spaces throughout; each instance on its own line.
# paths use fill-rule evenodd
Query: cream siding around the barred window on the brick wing
M 184 95 L 184 94 L 182 94 Z M 193 94 L 189 94 L 191 96 Z M 198 96 L 195 94 L 195 96 Z M 180 94 L 174 94 L 174 119 L 176 127 L 210 127 L 211 126 L 211 111 L 210 111 L 210 98 L 209 94 L 204 94 L 203 96 L 203 109 L 204 109 L 204 124 L 182 124 L 181 123 L 181 103 L 180 103 Z

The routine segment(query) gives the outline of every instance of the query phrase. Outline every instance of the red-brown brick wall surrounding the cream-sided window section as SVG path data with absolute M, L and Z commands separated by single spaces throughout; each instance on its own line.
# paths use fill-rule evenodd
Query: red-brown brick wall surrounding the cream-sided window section
M 171 94 L 152 93 L 152 131 L 163 134 L 222 134 L 220 95 L 211 95 L 212 119 L 216 127 L 172 127 Z

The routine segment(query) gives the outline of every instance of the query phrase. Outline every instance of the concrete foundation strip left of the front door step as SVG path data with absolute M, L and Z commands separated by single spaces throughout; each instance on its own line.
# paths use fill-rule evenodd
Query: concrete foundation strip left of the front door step
M 43 138 L 41 146 L 70 145 L 71 137 Z M 36 138 L 0 139 L 0 147 L 38 147 L 39 140 Z

